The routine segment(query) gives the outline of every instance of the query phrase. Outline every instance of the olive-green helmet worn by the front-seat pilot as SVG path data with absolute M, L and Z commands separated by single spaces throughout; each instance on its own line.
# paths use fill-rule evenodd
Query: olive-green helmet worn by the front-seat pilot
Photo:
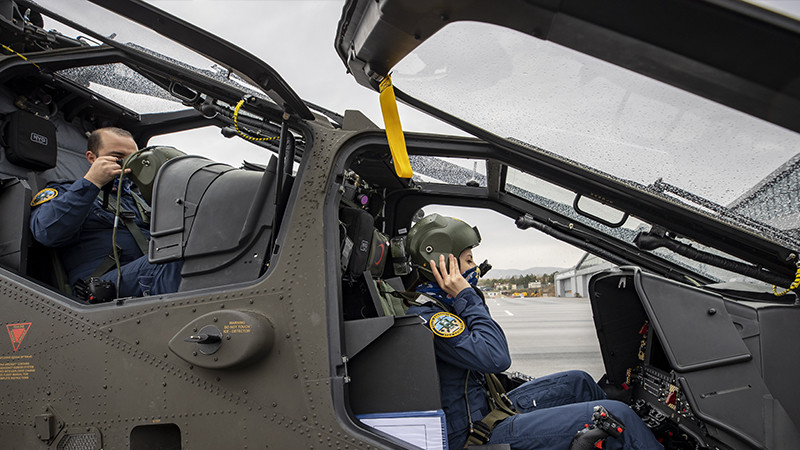
M 430 260 L 439 263 L 439 255 L 445 258 L 453 254 L 456 258 L 468 248 L 481 243 L 477 227 L 471 227 L 462 220 L 431 214 L 417 222 L 408 232 L 406 247 L 411 261 L 420 274 L 433 281 Z

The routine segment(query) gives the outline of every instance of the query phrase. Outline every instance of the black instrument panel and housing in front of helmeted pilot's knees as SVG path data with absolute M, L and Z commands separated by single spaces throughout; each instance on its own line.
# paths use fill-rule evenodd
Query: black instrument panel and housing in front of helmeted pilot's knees
M 604 388 L 666 449 L 796 448 L 800 399 L 772 371 L 792 363 L 771 336 L 800 309 L 753 308 L 634 267 L 593 276 L 589 293 Z

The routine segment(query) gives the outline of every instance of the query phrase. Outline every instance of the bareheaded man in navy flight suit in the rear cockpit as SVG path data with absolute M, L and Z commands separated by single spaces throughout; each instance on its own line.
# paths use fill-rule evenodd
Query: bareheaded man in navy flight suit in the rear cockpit
M 57 249 L 71 286 L 76 283 L 85 286 L 89 278 L 118 282 L 118 292 L 114 295 L 119 297 L 178 290 L 180 262 L 150 264 L 147 261 L 149 207 L 132 190 L 128 178 L 130 169 L 118 192 L 122 174 L 119 161 L 137 150 L 128 131 L 113 127 L 97 129 L 88 140 L 86 159 L 91 167 L 86 175 L 74 182 L 51 183 L 31 202 L 33 236 L 41 244 Z M 115 219 L 117 197 L 119 220 Z M 117 271 L 113 270 L 116 266 L 112 249 L 115 221 L 118 222 L 116 257 L 121 265 L 119 280 Z

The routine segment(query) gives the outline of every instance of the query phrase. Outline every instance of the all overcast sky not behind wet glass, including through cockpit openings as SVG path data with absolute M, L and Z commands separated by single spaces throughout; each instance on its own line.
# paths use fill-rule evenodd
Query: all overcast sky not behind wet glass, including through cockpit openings
M 222 1 L 222 0 L 150 0 L 190 23 L 218 34 L 253 53 L 277 70 L 305 100 L 333 111 L 347 109 L 363 112 L 383 126 L 378 94 L 360 86 L 346 73 L 334 49 L 336 27 L 343 2 L 338 0 L 292 1 Z M 457 130 L 411 108 L 399 105 L 406 131 L 454 134 Z M 207 130 L 214 139 L 218 130 Z M 202 142 L 203 132 L 194 133 L 193 141 Z M 242 148 L 264 157 L 263 150 L 241 140 L 225 141 L 231 149 L 225 152 L 238 158 Z M 186 137 L 161 137 L 161 143 L 184 147 Z M 236 150 L 232 150 L 235 148 Z M 213 149 L 215 159 L 219 149 Z M 257 160 L 256 156 L 248 156 Z M 238 161 L 227 161 L 236 164 Z M 463 218 L 478 226 L 483 242 L 475 250 L 480 261 L 488 259 L 496 268 L 526 269 L 529 267 L 571 267 L 582 251 L 563 244 L 538 231 L 518 230 L 513 220 L 493 211 L 467 211 L 459 208 L 428 208 L 426 212 Z

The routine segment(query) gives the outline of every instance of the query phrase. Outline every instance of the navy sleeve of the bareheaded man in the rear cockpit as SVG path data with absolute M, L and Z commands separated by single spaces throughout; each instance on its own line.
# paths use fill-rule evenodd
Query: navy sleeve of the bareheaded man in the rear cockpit
M 80 178 L 69 186 L 58 185 L 47 189 L 54 189 L 58 194 L 40 204 L 35 204 L 36 198 L 44 191 L 36 196 L 30 227 L 37 241 L 48 247 L 58 247 L 80 234 L 81 225 L 89 215 L 100 188 Z

